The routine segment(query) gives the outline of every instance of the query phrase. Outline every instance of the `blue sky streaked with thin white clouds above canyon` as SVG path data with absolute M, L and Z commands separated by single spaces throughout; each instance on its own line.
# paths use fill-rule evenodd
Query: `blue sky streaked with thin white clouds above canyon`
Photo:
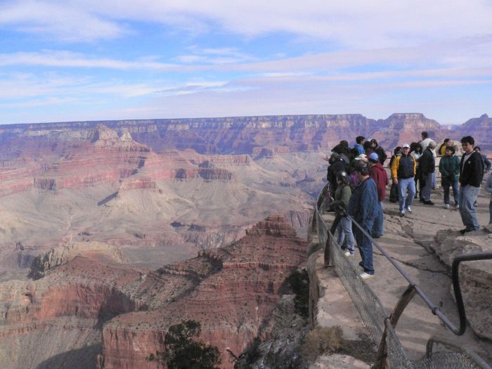
M 492 115 L 492 0 L 0 0 L 0 124 Z

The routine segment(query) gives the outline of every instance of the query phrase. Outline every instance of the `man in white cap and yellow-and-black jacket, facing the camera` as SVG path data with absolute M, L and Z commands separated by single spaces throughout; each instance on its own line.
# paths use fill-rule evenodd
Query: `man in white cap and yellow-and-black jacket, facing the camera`
M 410 145 L 404 143 L 401 146 L 401 156 L 396 156 L 391 164 L 391 177 L 393 183 L 398 185 L 398 199 L 400 202 L 400 216 L 405 216 L 405 212 L 412 212 L 413 197 L 415 196 L 415 158 L 409 154 Z M 408 195 L 405 198 L 406 192 Z

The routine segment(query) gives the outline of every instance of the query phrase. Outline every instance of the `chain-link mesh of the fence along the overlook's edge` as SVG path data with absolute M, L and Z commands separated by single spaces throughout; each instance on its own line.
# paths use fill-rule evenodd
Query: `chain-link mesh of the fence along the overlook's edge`
M 344 256 L 344 251 L 337 244 L 330 228 L 323 219 L 323 195 L 318 199 L 316 209 L 316 226 L 318 231 L 318 239 L 321 245 L 328 245 L 330 250 L 330 266 L 335 268 L 345 290 L 351 297 L 354 306 L 356 307 L 361 321 L 365 325 L 375 344 L 380 344 L 382 337 L 386 344 L 385 365 L 388 368 L 411 368 L 411 369 L 427 369 L 427 368 L 488 368 L 485 365 L 478 365 L 466 351 L 460 352 L 445 352 L 428 355 L 419 363 L 411 362 L 406 356 L 401 342 L 399 341 L 393 326 L 391 325 L 389 315 L 385 311 L 380 299 L 359 276 L 358 271 L 351 264 L 347 257 Z M 331 226 L 331 224 L 330 224 Z M 329 238 L 329 239 L 328 239 Z M 326 257 L 325 257 L 326 259 Z

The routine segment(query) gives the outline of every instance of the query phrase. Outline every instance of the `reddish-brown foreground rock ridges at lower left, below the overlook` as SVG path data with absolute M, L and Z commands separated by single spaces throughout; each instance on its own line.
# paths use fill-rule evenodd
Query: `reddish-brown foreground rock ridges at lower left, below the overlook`
M 306 255 L 306 243 L 278 216 L 254 229 L 234 245 L 155 271 L 114 264 L 101 245 L 53 250 L 36 262 L 42 278 L 0 283 L 1 367 L 64 361 L 91 368 L 104 323 L 98 365 L 155 368 L 148 359 L 164 349 L 167 327 L 193 319 L 202 325 L 200 338 L 219 347 L 222 366 L 232 368 L 226 349 L 240 354 L 268 333 L 278 290 Z

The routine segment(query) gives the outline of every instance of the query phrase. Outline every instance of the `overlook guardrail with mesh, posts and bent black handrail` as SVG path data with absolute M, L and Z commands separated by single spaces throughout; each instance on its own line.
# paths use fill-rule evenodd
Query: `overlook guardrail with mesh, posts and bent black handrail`
M 439 306 L 436 306 L 425 292 L 418 286 L 408 274 L 396 264 L 393 258 L 383 249 L 373 238 L 365 232 L 365 230 L 351 217 L 352 224 L 358 227 L 366 237 L 368 237 L 373 245 L 379 250 L 384 257 L 396 268 L 401 276 L 408 281 L 408 287 L 401 295 L 394 310 L 391 314 L 387 314 L 380 299 L 375 292 L 365 283 L 359 276 L 359 271 L 348 261 L 347 257 L 342 253 L 340 245 L 335 240 L 335 230 L 342 218 L 343 214 L 337 214 L 335 220 L 331 224 L 330 229 L 323 219 L 323 208 L 326 202 L 326 193 L 328 193 L 328 183 L 321 191 L 316 202 L 316 214 L 313 217 L 313 226 L 316 226 L 318 231 L 318 239 L 321 245 L 324 246 L 325 266 L 335 268 L 339 279 L 349 293 L 349 296 L 356 306 L 361 320 L 370 332 L 370 336 L 379 342 L 377 349 L 376 368 L 448 368 L 452 365 L 453 368 L 482 368 L 492 369 L 483 359 L 470 349 L 460 349 L 459 352 L 451 354 L 439 354 L 427 356 L 420 363 L 412 363 L 406 356 L 401 343 L 399 342 L 394 328 L 399 321 L 400 316 L 405 310 L 411 299 L 418 294 L 422 300 L 429 306 L 430 311 L 436 315 L 455 335 L 462 335 L 467 327 L 465 305 L 462 300 L 459 280 L 459 266 L 463 261 L 475 261 L 492 259 L 492 252 L 474 252 L 470 254 L 461 254 L 453 261 L 452 280 L 453 288 L 456 296 L 456 304 L 458 306 L 458 315 L 460 318 L 460 326 L 457 328 L 449 318 L 441 311 Z M 346 214 L 345 214 L 346 215 Z M 477 358 L 479 360 L 477 361 Z

